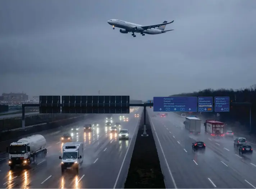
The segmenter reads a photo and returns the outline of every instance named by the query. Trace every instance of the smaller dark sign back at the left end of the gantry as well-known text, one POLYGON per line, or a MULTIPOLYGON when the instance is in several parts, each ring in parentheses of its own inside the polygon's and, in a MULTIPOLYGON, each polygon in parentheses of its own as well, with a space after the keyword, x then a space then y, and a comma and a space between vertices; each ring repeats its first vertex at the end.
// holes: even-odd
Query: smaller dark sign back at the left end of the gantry
POLYGON ((40 96, 39 113, 60 113, 60 96, 40 96))

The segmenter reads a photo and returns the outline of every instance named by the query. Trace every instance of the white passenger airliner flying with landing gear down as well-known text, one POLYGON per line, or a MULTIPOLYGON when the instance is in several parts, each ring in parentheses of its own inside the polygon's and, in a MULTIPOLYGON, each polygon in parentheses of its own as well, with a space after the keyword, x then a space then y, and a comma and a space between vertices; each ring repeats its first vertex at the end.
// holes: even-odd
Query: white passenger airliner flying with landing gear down
POLYGON ((136 37, 134 32, 140 33, 142 36, 144 36, 145 34, 155 35, 155 34, 166 33, 166 31, 172 31, 172 30, 164 30, 164 29, 166 24, 171 24, 173 22, 174 20, 171 22, 164 21, 162 24, 143 26, 143 25, 134 24, 127 21, 123 21, 123 20, 117 20, 117 19, 108 20, 108 23, 113 26, 113 29, 115 29, 115 27, 122 28, 119 30, 120 33, 131 32, 133 37, 136 37))

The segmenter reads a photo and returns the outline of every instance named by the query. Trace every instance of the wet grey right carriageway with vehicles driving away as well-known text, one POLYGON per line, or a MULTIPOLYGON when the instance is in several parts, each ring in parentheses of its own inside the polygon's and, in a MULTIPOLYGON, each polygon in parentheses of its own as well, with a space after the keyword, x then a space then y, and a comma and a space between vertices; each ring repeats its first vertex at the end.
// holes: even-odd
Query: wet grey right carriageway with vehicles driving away
MULTIPOLYGON (((163 118, 152 117, 157 112, 147 110, 166 188, 255 188, 255 152, 238 155, 234 139, 210 137, 204 132, 203 122, 201 134, 194 136, 184 128, 184 117, 173 112, 163 118), (192 151, 196 140, 205 142, 205 152, 192 151)), ((255 144, 250 145, 256 150, 255 144)))

